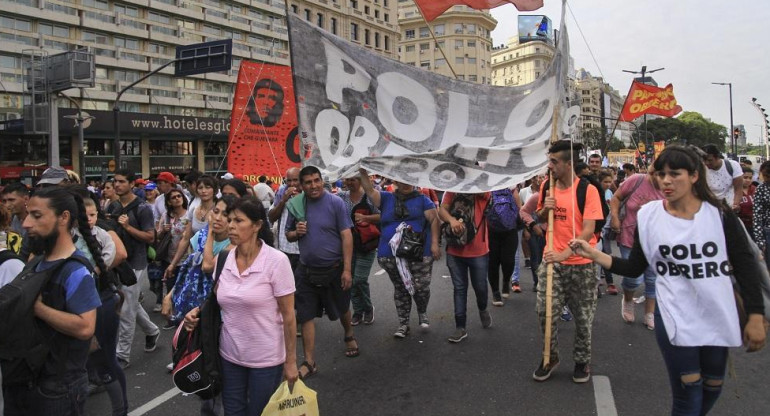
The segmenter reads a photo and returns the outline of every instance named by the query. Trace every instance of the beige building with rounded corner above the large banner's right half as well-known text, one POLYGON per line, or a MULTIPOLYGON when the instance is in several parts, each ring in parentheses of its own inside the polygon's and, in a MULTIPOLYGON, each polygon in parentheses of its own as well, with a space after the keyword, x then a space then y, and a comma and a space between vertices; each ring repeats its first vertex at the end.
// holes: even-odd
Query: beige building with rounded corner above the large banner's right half
POLYGON ((454 6, 426 22, 412 0, 399 0, 398 24, 401 62, 460 80, 491 83, 492 30, 497 20, 487 10, 454 6))

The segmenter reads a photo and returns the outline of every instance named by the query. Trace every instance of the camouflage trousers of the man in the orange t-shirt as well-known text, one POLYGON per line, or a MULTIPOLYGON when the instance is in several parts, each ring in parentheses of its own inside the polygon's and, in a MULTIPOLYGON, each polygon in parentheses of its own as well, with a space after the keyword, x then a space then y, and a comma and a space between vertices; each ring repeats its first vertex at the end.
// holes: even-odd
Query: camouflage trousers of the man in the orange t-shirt
MULTIPOLYGON (((540 332, 545 333, 546 264, 537 270, 537 316, 540 332)), ((569 306, 575 317, 575 363, 591 362, 591 325, 596 312, 596 271, 593 263, 553 264, 553 302, 551 307, 551 355, 558 357, 559 331, 556 325, 562 306, 569 306)))

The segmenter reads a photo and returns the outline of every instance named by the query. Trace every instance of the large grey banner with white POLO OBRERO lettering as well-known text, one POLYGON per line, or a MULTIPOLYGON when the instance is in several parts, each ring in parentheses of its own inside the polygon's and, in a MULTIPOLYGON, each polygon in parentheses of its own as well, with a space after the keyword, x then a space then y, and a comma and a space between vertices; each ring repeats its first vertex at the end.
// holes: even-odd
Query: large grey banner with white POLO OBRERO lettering
MULTIPOLYGON (((547 165, 554 108, 568 111, 567 32, 534 83, 493 87, 384 58, 289 14, 303 165, 329 180, 371 173, 474 193, 513 186, 547 165)), ((562 22, 564 19, 562 19, 562 22)))

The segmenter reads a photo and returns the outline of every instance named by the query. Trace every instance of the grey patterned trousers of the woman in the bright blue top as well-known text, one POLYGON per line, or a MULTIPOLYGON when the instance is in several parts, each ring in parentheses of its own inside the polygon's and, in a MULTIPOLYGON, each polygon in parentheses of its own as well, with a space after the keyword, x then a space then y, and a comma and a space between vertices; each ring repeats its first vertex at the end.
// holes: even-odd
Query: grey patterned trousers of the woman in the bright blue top
POLYGON ((398 313, 398 323, 400 325, 409 325, 409 315, 412 313, 412 299, 417 305, 417 313, 428 311, 428 301, 430 300, 430 277, 433 272, 433 258, 423 257, 422 261, 410 261, 409 271, 412 272, 412 282, 414 283, 414 296, 411 296, 398 274, 395 257, 380 257, 377 259, 393 282, 393 300, 396 302, 396 313, 398 313))

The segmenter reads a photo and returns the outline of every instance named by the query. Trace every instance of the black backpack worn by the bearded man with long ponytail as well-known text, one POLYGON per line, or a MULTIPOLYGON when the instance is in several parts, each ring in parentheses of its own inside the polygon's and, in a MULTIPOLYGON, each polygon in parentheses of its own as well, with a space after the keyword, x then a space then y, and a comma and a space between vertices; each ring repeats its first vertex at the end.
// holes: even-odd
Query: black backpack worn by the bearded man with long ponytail
MULTIPOLYGON (((56 309, 64 307, 52 304, 53 295, 51 278, 70 261, 83 264, 93 272, 91 264, 81 256, 56 260, 46 270, 35 271, 43 256, 30 261, 11 283, 0 288, 0 366, 3 372, 3 386, 32 386, 45 366, 48 355, 56 350, 54 338, 57 332, 45 322, 35 317, 34 305, 38 295, 43 295, 47 305, 56 309)), ((66 356, 61 351, 58 372, 64 373, 66 356)))

